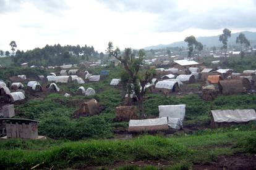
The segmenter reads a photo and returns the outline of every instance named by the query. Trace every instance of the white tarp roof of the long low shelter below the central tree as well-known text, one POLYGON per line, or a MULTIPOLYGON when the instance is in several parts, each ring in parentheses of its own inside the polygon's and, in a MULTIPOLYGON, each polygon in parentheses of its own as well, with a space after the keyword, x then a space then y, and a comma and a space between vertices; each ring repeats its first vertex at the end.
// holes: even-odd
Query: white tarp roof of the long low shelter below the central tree
POLYGON ((167 125, 167 118, 155 118, 155 119, 130 119, 129 127, 140 127, 140 126, 161 126, 167 125))

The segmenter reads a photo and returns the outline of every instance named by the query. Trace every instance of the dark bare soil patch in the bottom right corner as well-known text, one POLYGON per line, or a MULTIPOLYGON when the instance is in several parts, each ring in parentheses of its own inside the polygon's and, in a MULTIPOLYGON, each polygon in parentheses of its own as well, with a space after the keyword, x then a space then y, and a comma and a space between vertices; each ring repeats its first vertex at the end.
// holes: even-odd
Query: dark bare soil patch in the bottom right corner
POLYGON ((216 162, 208 164, 195 164, 194 169, 256 169, 256 155, 247 155, 244 153, 236 153, 235 155, 227 156, 220 155, 216 158, 216 162))

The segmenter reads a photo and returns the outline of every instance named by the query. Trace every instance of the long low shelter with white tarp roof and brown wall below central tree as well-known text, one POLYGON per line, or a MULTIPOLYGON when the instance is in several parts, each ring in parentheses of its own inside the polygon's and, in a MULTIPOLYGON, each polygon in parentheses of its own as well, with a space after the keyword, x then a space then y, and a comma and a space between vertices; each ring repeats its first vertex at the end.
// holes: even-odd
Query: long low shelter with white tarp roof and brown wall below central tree
POLYGON ((130 119, 128 132, 155 132, 168 130, 168 119, 130 119))

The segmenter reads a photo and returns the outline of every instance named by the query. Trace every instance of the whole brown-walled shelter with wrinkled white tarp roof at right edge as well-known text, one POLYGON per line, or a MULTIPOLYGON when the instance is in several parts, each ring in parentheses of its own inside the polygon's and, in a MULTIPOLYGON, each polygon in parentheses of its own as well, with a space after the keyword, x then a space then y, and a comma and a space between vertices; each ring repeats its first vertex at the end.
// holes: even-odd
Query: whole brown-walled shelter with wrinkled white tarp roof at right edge
POLYGON ((211 127, 227 127, 232 124, 256 121, 254 109, 211 110, 211 127))

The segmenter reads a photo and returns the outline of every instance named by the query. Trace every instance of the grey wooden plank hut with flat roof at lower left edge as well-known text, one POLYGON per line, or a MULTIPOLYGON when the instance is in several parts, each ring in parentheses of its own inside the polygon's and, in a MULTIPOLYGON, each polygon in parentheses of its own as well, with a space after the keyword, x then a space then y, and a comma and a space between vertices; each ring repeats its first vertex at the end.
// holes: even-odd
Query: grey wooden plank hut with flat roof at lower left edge
POLYGON ((38 121, 31 119, 3 118, 7 138, 37 139, 38 121))

